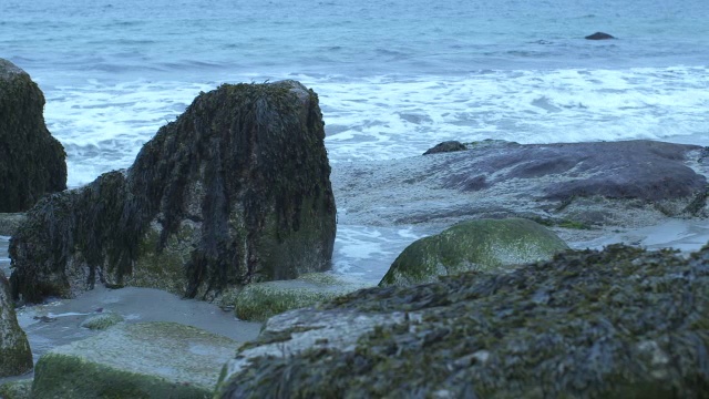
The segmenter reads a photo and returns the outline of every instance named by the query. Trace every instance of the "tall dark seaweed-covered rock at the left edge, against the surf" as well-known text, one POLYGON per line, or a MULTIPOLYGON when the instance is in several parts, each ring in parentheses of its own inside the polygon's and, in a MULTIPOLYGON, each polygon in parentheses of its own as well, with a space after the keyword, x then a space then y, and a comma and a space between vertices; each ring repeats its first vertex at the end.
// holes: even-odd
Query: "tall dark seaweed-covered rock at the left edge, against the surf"
POLYGON ((43 111, 44 95, 30 75, 0 59, 0 212, 27 211, 66 188, 66 154, 43 111))

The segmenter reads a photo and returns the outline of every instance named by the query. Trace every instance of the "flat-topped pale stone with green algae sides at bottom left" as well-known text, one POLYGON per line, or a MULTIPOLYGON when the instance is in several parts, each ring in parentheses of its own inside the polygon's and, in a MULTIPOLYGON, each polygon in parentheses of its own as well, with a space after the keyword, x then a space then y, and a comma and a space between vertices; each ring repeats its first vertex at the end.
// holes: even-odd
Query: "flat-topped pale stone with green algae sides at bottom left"
POLYGON ((33 398, 210 398, 238 344, 175 323, 116 326, 54 348, 34 369, 33 398))

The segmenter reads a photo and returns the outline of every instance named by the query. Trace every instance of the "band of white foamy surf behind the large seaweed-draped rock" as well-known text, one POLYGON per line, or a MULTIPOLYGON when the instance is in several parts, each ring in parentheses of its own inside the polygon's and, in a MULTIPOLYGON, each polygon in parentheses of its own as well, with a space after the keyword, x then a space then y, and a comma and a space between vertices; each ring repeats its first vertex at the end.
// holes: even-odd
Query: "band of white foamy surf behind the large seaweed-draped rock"
MULTIPOLYGON (((215 76, 212 76, 215 78, 215 76)), ((650 139, 709 144, 709 68, 479 71, 456 76, 219 76, 210 82, 95 80, 45 90, 69 185, 130 166, 199 91, 298 79, 320 98, 331 162, 421 154, 445 140, 520 143, 650 139)))

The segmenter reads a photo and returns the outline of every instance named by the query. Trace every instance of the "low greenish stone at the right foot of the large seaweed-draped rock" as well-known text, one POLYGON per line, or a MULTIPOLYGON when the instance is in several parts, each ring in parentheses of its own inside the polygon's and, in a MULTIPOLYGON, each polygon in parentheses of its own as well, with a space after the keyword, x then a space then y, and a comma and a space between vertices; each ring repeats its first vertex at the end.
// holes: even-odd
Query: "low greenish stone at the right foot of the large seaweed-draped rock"
POLYGON ((220 301, 222 306, 233 305, 236 317, 242 320, 265 321, 274 315, 314 306, 364 287, 363 283, 312 273, 295 280, 249 284, 220 301))

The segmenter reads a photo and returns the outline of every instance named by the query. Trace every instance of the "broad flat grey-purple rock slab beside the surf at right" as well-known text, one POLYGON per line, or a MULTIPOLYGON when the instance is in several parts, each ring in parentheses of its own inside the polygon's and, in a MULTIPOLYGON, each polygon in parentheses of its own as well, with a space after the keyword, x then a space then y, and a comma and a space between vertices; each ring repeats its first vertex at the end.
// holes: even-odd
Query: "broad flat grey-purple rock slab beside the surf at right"
POLYGON ((335 164, 332 182, 343 224, 521 216, 552 226, 641 227, 705 215, 705 156, 700 146, 653 141, 487 141, 455 153, 335 164))

